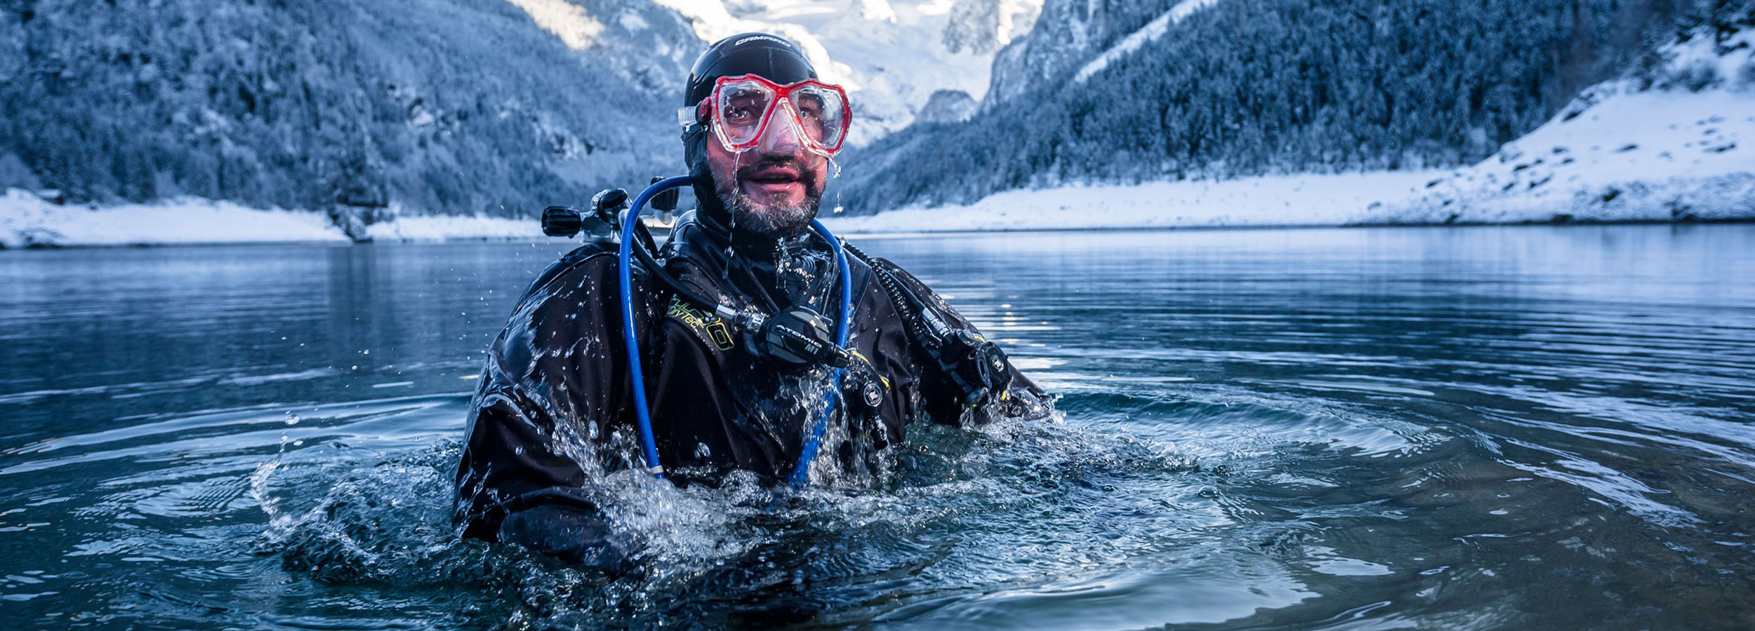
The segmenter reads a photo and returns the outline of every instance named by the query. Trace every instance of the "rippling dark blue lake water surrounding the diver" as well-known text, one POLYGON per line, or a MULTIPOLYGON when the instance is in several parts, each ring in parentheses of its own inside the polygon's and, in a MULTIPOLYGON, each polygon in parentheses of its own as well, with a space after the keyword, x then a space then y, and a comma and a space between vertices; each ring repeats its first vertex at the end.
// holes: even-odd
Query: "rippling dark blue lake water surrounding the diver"
POLYGON ((618 578, 448 522, 565 244, 0 252, 5 627, 1755 626, 1755 226, 856 242, 1064 421, 611 475, 618 578))

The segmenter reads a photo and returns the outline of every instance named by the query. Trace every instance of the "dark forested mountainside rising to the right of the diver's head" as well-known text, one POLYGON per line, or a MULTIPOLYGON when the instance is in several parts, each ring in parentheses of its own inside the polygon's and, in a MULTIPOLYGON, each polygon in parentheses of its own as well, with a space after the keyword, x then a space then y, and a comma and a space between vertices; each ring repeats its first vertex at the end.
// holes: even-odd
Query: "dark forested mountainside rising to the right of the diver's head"
POLYGON ((979 110, 844 160, 853 214, 1064 184, 1441 168, 1718 0, 1048 0, 979 110))

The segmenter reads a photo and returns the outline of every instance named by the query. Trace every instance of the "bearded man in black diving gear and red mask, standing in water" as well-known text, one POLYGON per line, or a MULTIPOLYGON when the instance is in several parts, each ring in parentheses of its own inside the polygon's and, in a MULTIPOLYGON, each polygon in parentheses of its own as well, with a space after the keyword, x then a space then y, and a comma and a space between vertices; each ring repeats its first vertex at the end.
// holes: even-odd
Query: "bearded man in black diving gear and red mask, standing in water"
POLYGON ((634 550, 591 471, 856 484, 907 422, 1051 412, 927 286, 814 221, 851 109, 795 44, 713 44, 683 105, 688 175, 570 214, 558 233, 598 237, 542 272, 495 338, 456 471, 463 536, 612 568, 634 550), (691 186, 697 209, 658 249, 639 212, 667 186, 691 186))

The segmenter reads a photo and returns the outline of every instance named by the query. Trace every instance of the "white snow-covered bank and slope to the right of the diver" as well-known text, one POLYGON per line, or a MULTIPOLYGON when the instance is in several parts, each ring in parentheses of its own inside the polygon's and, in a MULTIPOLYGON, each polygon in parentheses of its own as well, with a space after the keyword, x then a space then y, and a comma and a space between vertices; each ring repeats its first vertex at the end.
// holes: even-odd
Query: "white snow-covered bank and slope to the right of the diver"
POLYGON ((1076 184, 825 223, 906 233, 1755 219, 1755 32, 1658 54, 1658 68, 1592 86, 1467 168, 1076 184))

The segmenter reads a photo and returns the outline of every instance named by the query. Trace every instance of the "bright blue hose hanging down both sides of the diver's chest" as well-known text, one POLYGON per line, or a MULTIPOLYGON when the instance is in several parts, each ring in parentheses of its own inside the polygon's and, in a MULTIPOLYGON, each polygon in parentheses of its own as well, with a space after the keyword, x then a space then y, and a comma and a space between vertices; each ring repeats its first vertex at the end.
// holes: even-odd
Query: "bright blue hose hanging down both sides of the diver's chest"
MULTIPOLYGON (((621 340, 623 347, 628 351, 628 375, 634 382, 634 414, 641 426, 641 449, 646 456, 646 470, 655 477, 663 477, 663 464, 658 463, 658 440, 653 438, 653 421, 649 407, 646 405, 646 373, 641 366, 641 344, 634 335, 634 228, 639 224, 641 210, 651 202, 658 193, 688 186, 688 175, 667 177, 653 186, 648 186, 634 198, 634 205, 628 207, 627 217, 621 219, 621 249, 620 254, 620 273, 621 273, 621 340)), ((848 330, 853 326, 853 275, 848 272, 848 254, 841 251, 841 242, 835 235, 828 231, 820 221, 811 221, 811 228, 816 230, 828 247, 835 252, 837 275, 841 277, 841 323, 835 326, 835 345, 848 347, 848 330)), ((835 368, 834 384, 835 387, 828 393, 828 407, 823 410, 823 417, 811 426, 809 436, 806 436, 804 449, 799 452, 799 464, 793 466, 788 480, 793 487, 802 487, 811 477, 811 461, 816 459, 818 447, 823 442, 823 431, 828 428, 828 417, 835 412, 835 393, 841 391, 841 377, 846 368, 835 368)))

